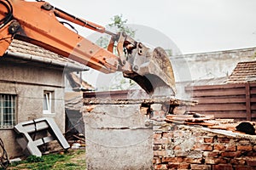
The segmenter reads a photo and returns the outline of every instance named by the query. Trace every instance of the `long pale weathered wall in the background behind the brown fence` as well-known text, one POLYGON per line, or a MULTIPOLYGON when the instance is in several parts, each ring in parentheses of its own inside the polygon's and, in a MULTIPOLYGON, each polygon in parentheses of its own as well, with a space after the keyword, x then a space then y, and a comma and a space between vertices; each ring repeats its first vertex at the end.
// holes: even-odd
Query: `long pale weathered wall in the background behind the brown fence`
POLYGON ((171 56, 176 82, 230 76, 238 62, 256 59, 256 48, 171 56))

